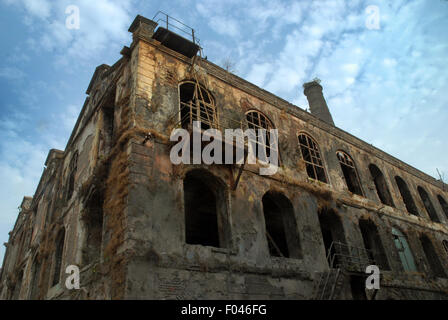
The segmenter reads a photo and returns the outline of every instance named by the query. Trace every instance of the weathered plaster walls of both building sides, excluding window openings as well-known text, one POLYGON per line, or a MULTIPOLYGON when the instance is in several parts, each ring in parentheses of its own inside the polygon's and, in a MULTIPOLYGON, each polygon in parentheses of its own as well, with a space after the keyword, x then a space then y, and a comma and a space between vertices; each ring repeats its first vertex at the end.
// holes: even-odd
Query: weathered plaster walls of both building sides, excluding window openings
MULTIPOLYGON (((319 223, 324 211, 341 221, 342 240, 351 246, 363 246, 360 219, 376 225, 391 269, 383 270, 377 298, 447 297, 448 280, 432 275, 419 240, 428 235, 448 269, 441 246, 448 239, 448 217, 437 201, 437 195, 448 199, 442 189, 446 186, 208 61, 199 60, 192 69, 192 61, 148 38, 149 29, 143 36, 138 30, 122 59, 96 69, 66 150, 50 151, 34 198, 22 205, 4 259, 1 298, 11 299, 17 285, 21 299, 309 299, 318 272, 328 270, 319 223), (213 96, 222 128, 239 127, 245 113, 256 109, 279 129, 275 175, 260 176, 259 164, 246 165, 233 190, 236 166, 171 163, 169 135, 178 122, 179 84, 195 78, 213 96), (299 132, 318 143, 329 184, 308 178, 299 132), (338 150, 354 159, 364 197, 348 192, 338 150), (75 188, 66 199, 75 152, 75 188), (380 203, 368 169, 372 163, 385 176, 394 208, 380 203), (220 248, 186 243, 183 179, 193 169, 213 175, 222 186, 220 248), (406 212, 396 175, 406 181, 418 217, 406 212), (430 195, 441 223, 430 220, 418 186, 430 195), (270 256, 262 203, 268 191, 283 194, 291 204, 299 258, 270 256), (101 200, 101 244, 98 256, 87 261, 89 215, 96 197, 101 200), (392 227, 406 235, 418 272, 403 272, 392 227), (66 290, 63 271, 52 285, 62 228, 62 270, 78 265, 83 290, 66 290)), ((339 298, 352 298, 348 277, 339 298)))

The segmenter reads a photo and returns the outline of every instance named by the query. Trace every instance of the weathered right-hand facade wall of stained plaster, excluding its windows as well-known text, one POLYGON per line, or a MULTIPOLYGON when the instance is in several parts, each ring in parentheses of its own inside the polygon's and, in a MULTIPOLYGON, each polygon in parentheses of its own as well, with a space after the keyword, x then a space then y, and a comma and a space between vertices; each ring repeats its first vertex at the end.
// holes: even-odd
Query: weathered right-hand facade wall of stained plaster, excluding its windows
MULTIPOLYGON (((133 55, 138 56, 135 91, 136 126, 143 130, 154 130, 166 137, 173 128, 172 119, 178 112, 178 85, 181 81, 191 80, 193 77, 189 73, 190 65, 181 57, 177 57, 176 53, 167 52, 167 49, 160 47, 156 42, 140 41, 133 50, 133 55)), ((399 227, 407 234, 416 262, 425 274, 429 271, 418 237, 408 229, 433 234, 434 244, 438 246, 440 257, 447 266, 446 255, 441 248, 441 240, 447 238, 446 225, 431 222, 422 203, 418 204, 421 217, 406 213, 393 178, 395 175, 400 175, 407 181, 412 188, 411 192, 416 203, 419 202, 415 193, 417 184, 424 186, 431 193, 435 207, 437 206, 435 195, 443 194, 446 197, 446 192, 392 166, 388 161, 377 158, 375 154, 348 143, 345 139, 330 135, 303 119, 292 117, 263 99, 229 85, 222 79, 207 75, 203 70, 199 72, 198 78, 213 95, 224 127, 231 127, 233 123, 227 120, 228 118, 241 121, 245 112, 251 109, 262 111, 278 125, 282 166, 279 173, 272 177, 261 177, 256 173, 257 166, 247 166, 236 191, 230 190, 234 182, 234 170, 219 165, 204 167, 227 186, 229 208, 227 218, 231 241, 227 249, 188 245, 185 243, 182 178, 195 166, 173 166, 169 160, 170 145, 160 137, 156 136, 144 145, 141 143, 143 137, 140 141, 135 140, 131 146, 130 156, 130 180, 133 187, 130 191, 128 211, 129 232, 135 245, 135 257, 128 265, 127 297, 173 298, 176 295, 185 297, 189 294, 189 297, 193 298, 247 298, 253 297, 253 293, 251 294, 248 289, 250 285, 246 283, 250 282, 247 279, 253 276, 262 279, 260 281, 266 285, 257 292, 261 296, 288 298, 289 295, 285 290, 297 292, 297 288, 308 287, 300 289, 301 293, 297 293, 295 298, 300 298, 300 295, 301 298, 309 298, 314 272, 327 268, 317 214, 319 203, 338 212, 344 226, 346 241, 350 245, 363 246, 358 227, 360 218, 371 219, 375 223, 392 269, 385 273, 390 274, 391 278, 402 272, 391 236, 392 226, 399 227), (329 186, 318 183, 318 188, 331 192, 335 201, 322 202, 322 199, 301 187, 301 183, 306 184, 308 180, 306 172, 298 170, 301 167, 301 156, 297 147, 297 134, 301 131, 309 133, 319 143, 330 183, 329 186), (336 158, 337 150, 344 150, 355 159, 366 198, 347 191, 336 158), (375 185, 368 171, 371 163, 383 171, 397 208, 383 208, 384 206, 379 203, 375 185), (299 183, 294 183, 297 181, 299 183), (263 195, 269 190, 282 192, 294 207, 297 234, 303 246, 302 259, 269 256, 261 203, 263 195), (341 205, 340 201, 338 203, 340 195, 343 195, 342 202, 351 206, 341 205), (364 206, 366 208, 363 208, 364 206), (203 274, 203 271, 207 273, 203 274), (236 272, 239 273, 239 280, 235 278, 236 272), (202 276, 197 276, 201 274, 202 276), (275 274, 276 281, 275 285, 269 286, 272 274, 275 274), (291 276, 292 274, 294 276, 291 276), (240 283, 239 296, 235 296, 228 287, 221 287, 218 283, 222 283, 222 279, 226 279, 226 282, 240 283), (285 279, 288 279, 288 284, 283 282, 285 279), (167 293, 169 290, 166 287, 170 286, 174 288, 172 294, 167 293)), ((446 222, 443 220, 441 208, 437 210, 441 221, 446 222)), ((419 281, 421 283, 418 285, 422 287, 424 286, 422 283, 430 288, 431 285, 435 285, 425 279, 423 273, 414 275, 407 281, 408 284, 402 285, 411 287, 419 281), (423 280, 418 280, 421 277, 423 280)), ((438 279, 438 283, 442 283, 442 287, 446 288, 447 283, 444 279, 438 279)), ((235 285, 230 287, 234 288, 235 285)), ((346 288, 345 297, 350 298, 351 293, 347 290, 346 288)), ((432 287, 431 290, 435 289, 432 287)), ((427 297, 430 296, 431 294, 428 294, 427 297)), ((388 297, 384 290, 382 298, 388 297)))

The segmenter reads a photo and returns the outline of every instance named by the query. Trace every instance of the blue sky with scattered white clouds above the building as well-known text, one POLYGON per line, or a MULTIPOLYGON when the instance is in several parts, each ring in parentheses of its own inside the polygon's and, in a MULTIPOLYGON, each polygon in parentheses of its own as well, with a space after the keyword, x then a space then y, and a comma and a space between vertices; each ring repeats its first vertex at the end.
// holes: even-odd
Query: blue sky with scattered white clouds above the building
POLYGON ((448 180, 448 1, 0 0, 0 245, 95 68, 159 10, 195 29, 208 60, 302 109, 319 78, 337 127, 448 180))

